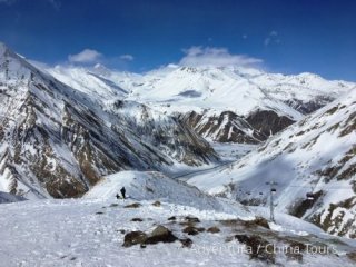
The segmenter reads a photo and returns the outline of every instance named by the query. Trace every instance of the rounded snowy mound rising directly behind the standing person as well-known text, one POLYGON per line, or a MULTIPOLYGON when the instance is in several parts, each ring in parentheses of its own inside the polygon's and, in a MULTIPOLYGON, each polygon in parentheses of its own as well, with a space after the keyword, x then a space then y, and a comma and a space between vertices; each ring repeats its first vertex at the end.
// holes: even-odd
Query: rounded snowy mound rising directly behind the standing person
POLYGON ((240 216, 253 218, 243 205, 227 199, 217 199, 202 194, 198 188, 171 179, 161 172, 120 171, 105 177, 83 197, 90 199, 115 199, 125 187, 127 196, 135 200, 161 200, 220 212, 239 210, 240 216))

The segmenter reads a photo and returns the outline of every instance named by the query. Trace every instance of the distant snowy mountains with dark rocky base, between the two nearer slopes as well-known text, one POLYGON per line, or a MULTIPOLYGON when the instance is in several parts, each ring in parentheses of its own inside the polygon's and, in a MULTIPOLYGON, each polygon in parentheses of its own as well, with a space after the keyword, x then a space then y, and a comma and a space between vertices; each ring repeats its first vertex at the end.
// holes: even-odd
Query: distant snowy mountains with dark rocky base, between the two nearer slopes
POLYGON ((284 76, 260 70, 169 65, 145 75, 62 67, 48 71, 80 87, 92 75, 113 82, 128 99, 147 103, 195 128, 208 140, 258 144, 355 87, 316 75, 284 76))

